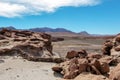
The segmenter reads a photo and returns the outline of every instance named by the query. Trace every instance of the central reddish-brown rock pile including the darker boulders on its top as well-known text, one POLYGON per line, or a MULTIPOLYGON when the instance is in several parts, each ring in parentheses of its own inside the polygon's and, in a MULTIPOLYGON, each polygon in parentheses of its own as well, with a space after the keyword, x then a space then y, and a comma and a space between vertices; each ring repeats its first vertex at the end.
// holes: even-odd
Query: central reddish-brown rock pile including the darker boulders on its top
POLYGON ((110 71, 109 63, 103 61, 100 54, 87 54, 85 50, 70 51, 67 53, 65 62, 57 64, 52 68, 53 71, 61 73, 64 79, 74 79, 82 72, 104 75, 110 71), (82 54, 82 55, 81 55, 82 54))

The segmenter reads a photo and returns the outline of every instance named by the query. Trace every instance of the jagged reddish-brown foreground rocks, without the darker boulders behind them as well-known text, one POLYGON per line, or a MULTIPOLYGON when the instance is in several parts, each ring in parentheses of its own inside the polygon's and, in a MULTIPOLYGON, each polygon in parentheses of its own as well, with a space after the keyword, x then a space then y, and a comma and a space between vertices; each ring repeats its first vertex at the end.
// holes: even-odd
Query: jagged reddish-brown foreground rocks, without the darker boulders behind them
POLYGON ((97 58, 89 60, 87 57, 74 57, 60 64, 57 64, 57 66, 54 66, 52 70, 61 73, 64 79, 74 79, 82 72, 104 75, 110 71, 109 64, 107 62, 100 62, 97 58))

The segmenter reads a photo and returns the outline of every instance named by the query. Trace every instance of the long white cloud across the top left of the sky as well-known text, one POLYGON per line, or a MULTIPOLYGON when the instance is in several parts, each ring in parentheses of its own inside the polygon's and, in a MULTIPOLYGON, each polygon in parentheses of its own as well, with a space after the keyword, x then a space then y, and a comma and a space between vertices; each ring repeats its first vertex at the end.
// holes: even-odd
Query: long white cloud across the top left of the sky
POLYGON ((0 16, 18 17, 39 15, 41 12, 54 12, 65 6, 94 6, 100 0, 0 0, 0 16))

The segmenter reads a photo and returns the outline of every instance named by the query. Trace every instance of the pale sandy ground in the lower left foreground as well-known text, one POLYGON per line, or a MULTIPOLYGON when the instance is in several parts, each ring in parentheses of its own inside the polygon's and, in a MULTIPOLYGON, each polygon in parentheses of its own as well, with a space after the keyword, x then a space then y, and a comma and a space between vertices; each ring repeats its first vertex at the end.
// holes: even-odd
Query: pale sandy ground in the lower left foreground
POLYGON ((9 57, 0 63, 0 80, 59 80, 51 67, 55 63, 32 62, 9 57))

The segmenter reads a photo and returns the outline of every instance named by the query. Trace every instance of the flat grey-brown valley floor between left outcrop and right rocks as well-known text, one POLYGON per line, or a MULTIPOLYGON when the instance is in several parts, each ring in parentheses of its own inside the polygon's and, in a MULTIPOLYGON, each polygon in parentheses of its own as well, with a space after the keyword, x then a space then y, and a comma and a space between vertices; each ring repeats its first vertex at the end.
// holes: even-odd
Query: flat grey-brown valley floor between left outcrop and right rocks
POLYGON ((60 42, 53 42, 53 52, 56 52, 60 57, 65 57, 68 51, 80 51, 85 49, 88 53, 101 53, 102 43, 104 40, 65 40, 60 42))

